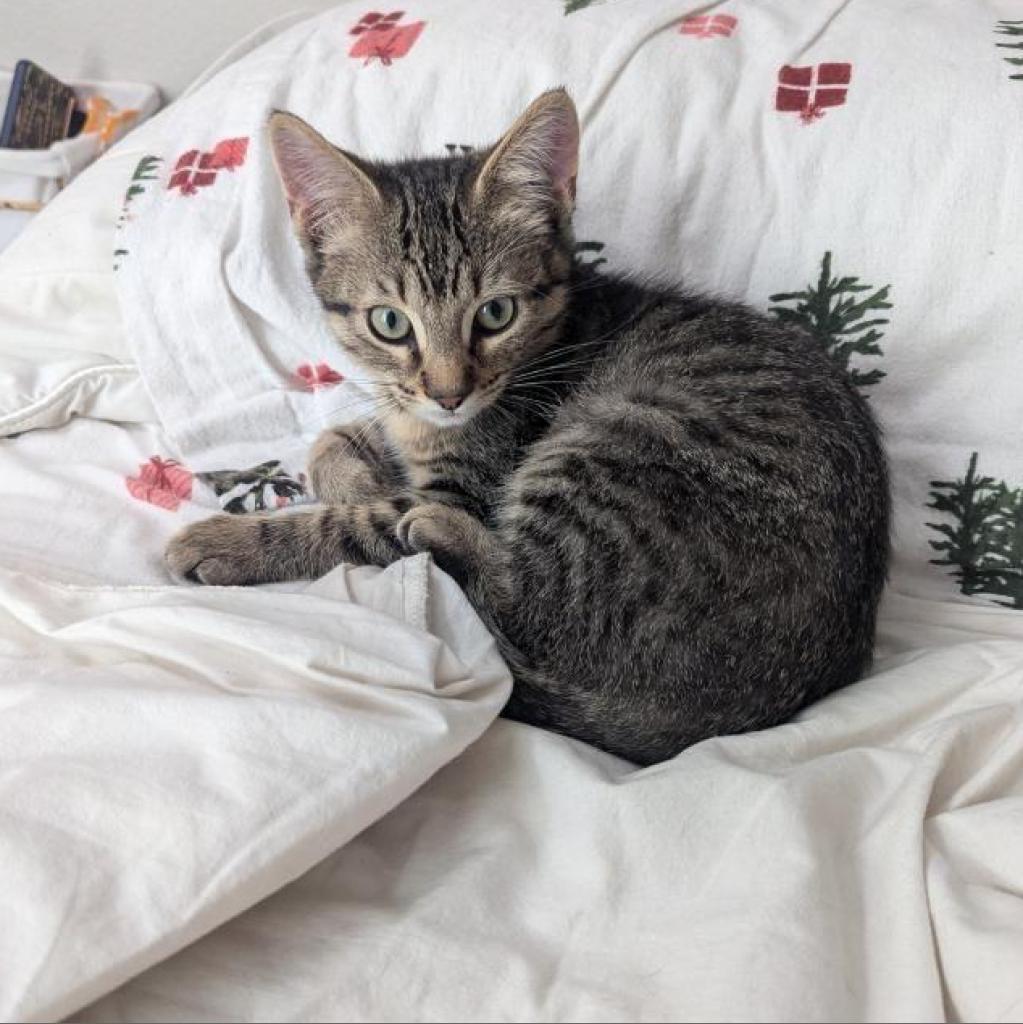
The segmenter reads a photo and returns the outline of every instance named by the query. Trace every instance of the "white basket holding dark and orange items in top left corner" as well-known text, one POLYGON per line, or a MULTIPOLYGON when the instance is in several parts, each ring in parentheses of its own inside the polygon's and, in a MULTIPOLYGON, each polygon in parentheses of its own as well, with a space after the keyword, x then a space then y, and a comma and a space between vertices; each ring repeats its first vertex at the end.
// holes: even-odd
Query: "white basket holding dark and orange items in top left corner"
MULTIPOLYGON (((0 70, 0 96, 10 91, 13 75, 0 70)), ((160 93, 137 82, 68 83, 82 106, 92 95, 109 99, 119 111, 135 110, 129 127, 144 121, 160 106, 160 93)), ((0 148, 0 249, 25 226, 76 174, 92 163, 104 146, 97 132, 54 142, 48 150, 0 148)))

